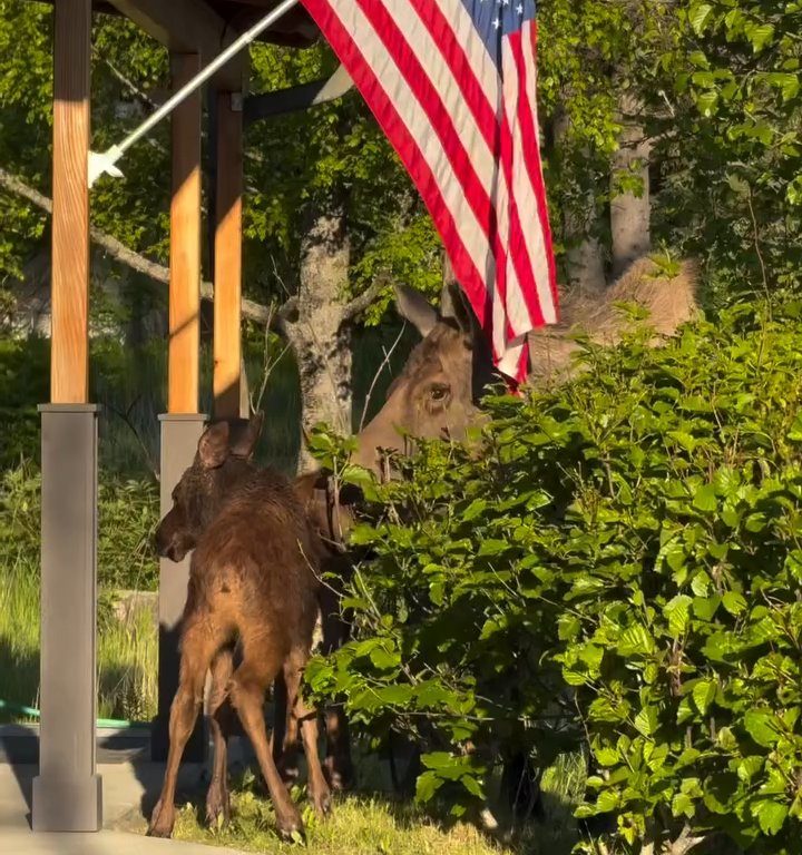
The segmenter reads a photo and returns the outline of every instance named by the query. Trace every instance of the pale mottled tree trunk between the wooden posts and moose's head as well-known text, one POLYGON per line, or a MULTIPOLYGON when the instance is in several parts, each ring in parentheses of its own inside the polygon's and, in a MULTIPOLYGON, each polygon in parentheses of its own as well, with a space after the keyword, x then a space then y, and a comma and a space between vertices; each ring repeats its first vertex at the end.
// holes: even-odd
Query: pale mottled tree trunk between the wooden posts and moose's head
MULTIPOLYGON (((303 431, 326 422, 351 433, 351 325, 343 299, 349 261, 342 209, 319 213, 302 242, 294 316, 283 321, 299 366, 303 431)), ((315 465, 302 436, 299 472, 315 465)))

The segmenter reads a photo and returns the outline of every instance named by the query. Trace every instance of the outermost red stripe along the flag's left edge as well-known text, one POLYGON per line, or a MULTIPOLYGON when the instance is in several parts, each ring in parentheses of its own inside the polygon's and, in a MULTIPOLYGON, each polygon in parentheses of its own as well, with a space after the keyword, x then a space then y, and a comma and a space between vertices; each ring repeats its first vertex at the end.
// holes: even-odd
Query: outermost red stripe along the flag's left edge
MULTIPOLYGON (((423 154, 401 120, 387 92, 381 87, 379 79, 354 43, 351 35, 343 27, 326 0, 303 0, 303 3, 332 46, 340 61, 345 66, 351 79, 365 99, 368 107, 376 117, 382 130, 398 151, 442 237, 443 245, 451 258, 456 277, 464 288, 482 328, 488 330, 485 279, 462 244, 453 216, 442 198, 434 175, 429 168, 423 154)), ((490 344, 492 346, 492 338, 490 338, 490 344)), ((493 360, 498 361, 498 354, 495 352, 495 348, 493 360)))

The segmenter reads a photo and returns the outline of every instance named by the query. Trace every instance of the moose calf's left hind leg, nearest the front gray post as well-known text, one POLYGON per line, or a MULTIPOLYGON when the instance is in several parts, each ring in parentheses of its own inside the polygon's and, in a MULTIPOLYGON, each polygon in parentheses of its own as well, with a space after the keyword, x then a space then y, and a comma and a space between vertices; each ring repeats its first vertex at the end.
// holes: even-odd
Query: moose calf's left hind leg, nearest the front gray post
POLYGON ((169 720, 169 751, 162 795, 150 817, 148 835, 169 837, 175 825, 175 787, 178 766, 203 704, 204 682, 212 657, 221 646, 219 633, 205 621, 188 626, 182 633, 178 690, 169 720))

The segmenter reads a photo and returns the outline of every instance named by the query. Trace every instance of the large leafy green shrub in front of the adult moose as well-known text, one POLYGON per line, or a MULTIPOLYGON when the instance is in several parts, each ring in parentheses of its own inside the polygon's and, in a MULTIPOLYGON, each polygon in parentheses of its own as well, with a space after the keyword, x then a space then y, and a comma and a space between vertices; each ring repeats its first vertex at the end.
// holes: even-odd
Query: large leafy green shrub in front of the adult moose
POLYGON ((799 852, 802 330, 757 311, 587 345, 378 491, 355 638, 307 680, 419 741, 422 800, 473 810, 505 755, 583 740, 614 848, 799 852))

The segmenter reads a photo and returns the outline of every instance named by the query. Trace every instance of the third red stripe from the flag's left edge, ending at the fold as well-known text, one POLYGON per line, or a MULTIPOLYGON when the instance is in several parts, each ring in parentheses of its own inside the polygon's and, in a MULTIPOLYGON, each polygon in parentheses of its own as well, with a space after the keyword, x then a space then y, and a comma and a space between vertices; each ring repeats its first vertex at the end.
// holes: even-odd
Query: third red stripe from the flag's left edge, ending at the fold
MULTIPOLYGON (((418 12, 418 17, 431 33, 434 43, 451 69, 466 105, 473 114, 473 118, 485 137, 488 148, 497 153, 499 147, 499 121, 496 105, 490 104, 485 95, 481 83, 473 73, 468 53, 457 41, 457 36, 453 29, 451 29, 451 24, 443 16, 440 7, 432 2, 432 0, 409 0, 409 2, 418 12)), ((476 38, 479 40, 478 35, 476 38)), ((487 50, 483 43, 481 49, 487 50)))

